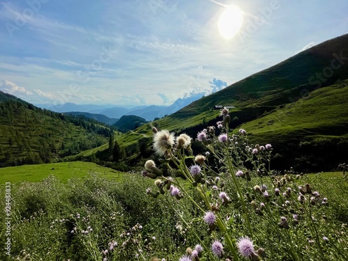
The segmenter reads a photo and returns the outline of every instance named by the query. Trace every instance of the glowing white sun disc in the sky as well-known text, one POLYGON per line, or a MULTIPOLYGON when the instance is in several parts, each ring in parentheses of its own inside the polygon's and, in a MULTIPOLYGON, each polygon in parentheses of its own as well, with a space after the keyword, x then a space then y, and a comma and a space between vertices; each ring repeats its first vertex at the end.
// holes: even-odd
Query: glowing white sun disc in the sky
POLYGON ((220 15, 218 26, 223 38, 230 39, 238 33, 243 23, 243 11, 237 6, 227 6, 220 15))

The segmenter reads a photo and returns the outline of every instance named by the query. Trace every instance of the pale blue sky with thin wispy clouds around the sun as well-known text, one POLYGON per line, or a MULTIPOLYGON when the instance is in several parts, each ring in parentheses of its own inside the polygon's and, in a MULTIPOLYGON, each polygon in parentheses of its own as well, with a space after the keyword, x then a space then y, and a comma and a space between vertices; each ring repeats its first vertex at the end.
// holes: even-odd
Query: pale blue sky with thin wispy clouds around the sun
POLYGON ((348 33, 347 0, 0 0, 0 90, 33 104, 168 105, 348 33), (223 38, 226 6, 242 26, 223 38))

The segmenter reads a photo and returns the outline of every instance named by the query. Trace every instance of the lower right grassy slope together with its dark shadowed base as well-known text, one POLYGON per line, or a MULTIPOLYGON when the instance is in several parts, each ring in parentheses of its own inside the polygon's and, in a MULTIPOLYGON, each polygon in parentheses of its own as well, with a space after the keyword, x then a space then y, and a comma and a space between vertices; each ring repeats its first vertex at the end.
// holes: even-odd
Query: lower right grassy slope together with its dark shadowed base
POLYGON ((251 142, 271 143, 277 168, 322 171, 348 161, 348 80, 246 122, 251 142), (288 159, 292 159, 289 161, 288 159), (323 169, 324 168, 324 169, 323 169))

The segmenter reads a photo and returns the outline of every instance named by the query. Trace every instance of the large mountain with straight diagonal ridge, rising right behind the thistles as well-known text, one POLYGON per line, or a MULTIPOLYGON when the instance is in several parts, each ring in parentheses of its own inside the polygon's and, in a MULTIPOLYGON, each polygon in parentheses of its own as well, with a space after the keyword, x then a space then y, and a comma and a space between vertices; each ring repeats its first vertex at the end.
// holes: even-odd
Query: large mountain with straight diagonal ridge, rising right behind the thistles
MULTIPOLYGON (((159 129, 187 132, 195 137, 198 131, 208 125, 215 125, 216 121, 221 119, 219 111, 214 110, 215 105, 233 106, 233 109, 230 109, 232 118, 230 127, 238 129, 245 125, 245 129, 251 134, 251 143, 274 143, 275 150, 283 153, 282 157, 278 157, 280 160, 276 165, 277 168, 296 166, 296 168, 306 171, 332 170, 335 166, 337 167, 339 161, 343 160, 340 152, 333 149, 333 144, 336 142, 341 145, 347 144, 348 117, 344 113, 339 113, 347 111, 344 103, 340 102, 333 106, 329 100, 338 98, 338 93, 347 97, 346 79, 348 79, 348 34, 306 49, 271 68, 202 97, 152 124, 159 129), (325 89, 327 91, 321 92, 320 90, 324 90, 324 88, 327 88, 325 89), (336 93, 337 95, 329 95, 329 90, 337 88, 341 92, 336 93), (317 97, 311 101, 313 106, 318 109, 308 114, 310 111, 307 107, 308 104, 302 101, 306 101, 309 97, 317 97), (298 108, 297 122, 301 122, 301 125, 299 124, 297 127, 295 121, 294 127, 287 128, 286 135, 282 127, 275 127, 272 131, 269 129, 267 131, 267 128, 264 128, 262 132, 258 130, 260 125, 268 124, 264 122, 269 122, 269 120, 262 119, 266 119, 265 117, 269 117, 269 115, 276 116, 277 112, 288 108, 287 106, 295 106, 295 104, 298 108), (326 121, 320 120, 320 126, 313 124, 321 116, 326 121), (330 119, 334 124, 330 122, 330 119), (338 122, 340 122, 339 125, 338 122), (342 132, 335 131, 335 124, 342 129, 342 132), (320 143, 322 139, 325 142, 320 143), (327 154, 320 159, 316 157, 313 150, 319 148, 319 144, 322 144, 321 150, 331 152, 330 157, 327 154)), ((292 113, 292 111, 282 114, 282 122, 287 122, 287 118, 290 119, 292 114, 287 113, 292 113)), ((276 126, 283 126, 282 122, 276 126)), ((122 139, 119 140, 120 144, 124 140, 125 145, 131 146, 129 141, 133 140, 136 143, 137 139, 141 139, 139 134, 151 137, 150 125, 143 125, 133 133, 122 136, 122 139)), ((148 142, 150 143, 150 141, 148 142)), ((135 150, 134 153, 136 153, 135 150)), ((347 153, 343 155, 347 155, 347 153)), ((347 156, 344 156, 344 159, 348 161, 347 156)))

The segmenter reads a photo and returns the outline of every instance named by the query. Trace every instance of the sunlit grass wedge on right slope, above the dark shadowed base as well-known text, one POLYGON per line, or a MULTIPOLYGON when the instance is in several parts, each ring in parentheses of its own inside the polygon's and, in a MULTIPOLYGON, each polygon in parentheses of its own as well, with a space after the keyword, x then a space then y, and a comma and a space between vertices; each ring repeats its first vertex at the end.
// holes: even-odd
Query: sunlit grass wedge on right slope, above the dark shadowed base
POLYGON ((348 131, 348 82, 315 90, 307 97, 287 104, 242 127, 255 136, 341 136, 348 131), (271 134, 271 135, 270 135, 271 134), (278 135, 277 135, 278 134, 278 135))

